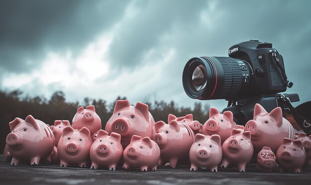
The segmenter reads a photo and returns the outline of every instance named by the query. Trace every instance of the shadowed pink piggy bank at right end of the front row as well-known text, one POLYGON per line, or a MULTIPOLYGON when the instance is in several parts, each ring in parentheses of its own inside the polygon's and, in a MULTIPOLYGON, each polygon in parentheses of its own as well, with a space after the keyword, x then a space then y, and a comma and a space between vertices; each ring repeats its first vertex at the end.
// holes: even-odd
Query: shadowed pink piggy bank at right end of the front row
POLYGON ((293 170, 295 173, 300 173, 306 162, 306 151, 303 142, 285 137, 283 144, 280 145, 276 152, 276 157, 280 172, 293 170))

